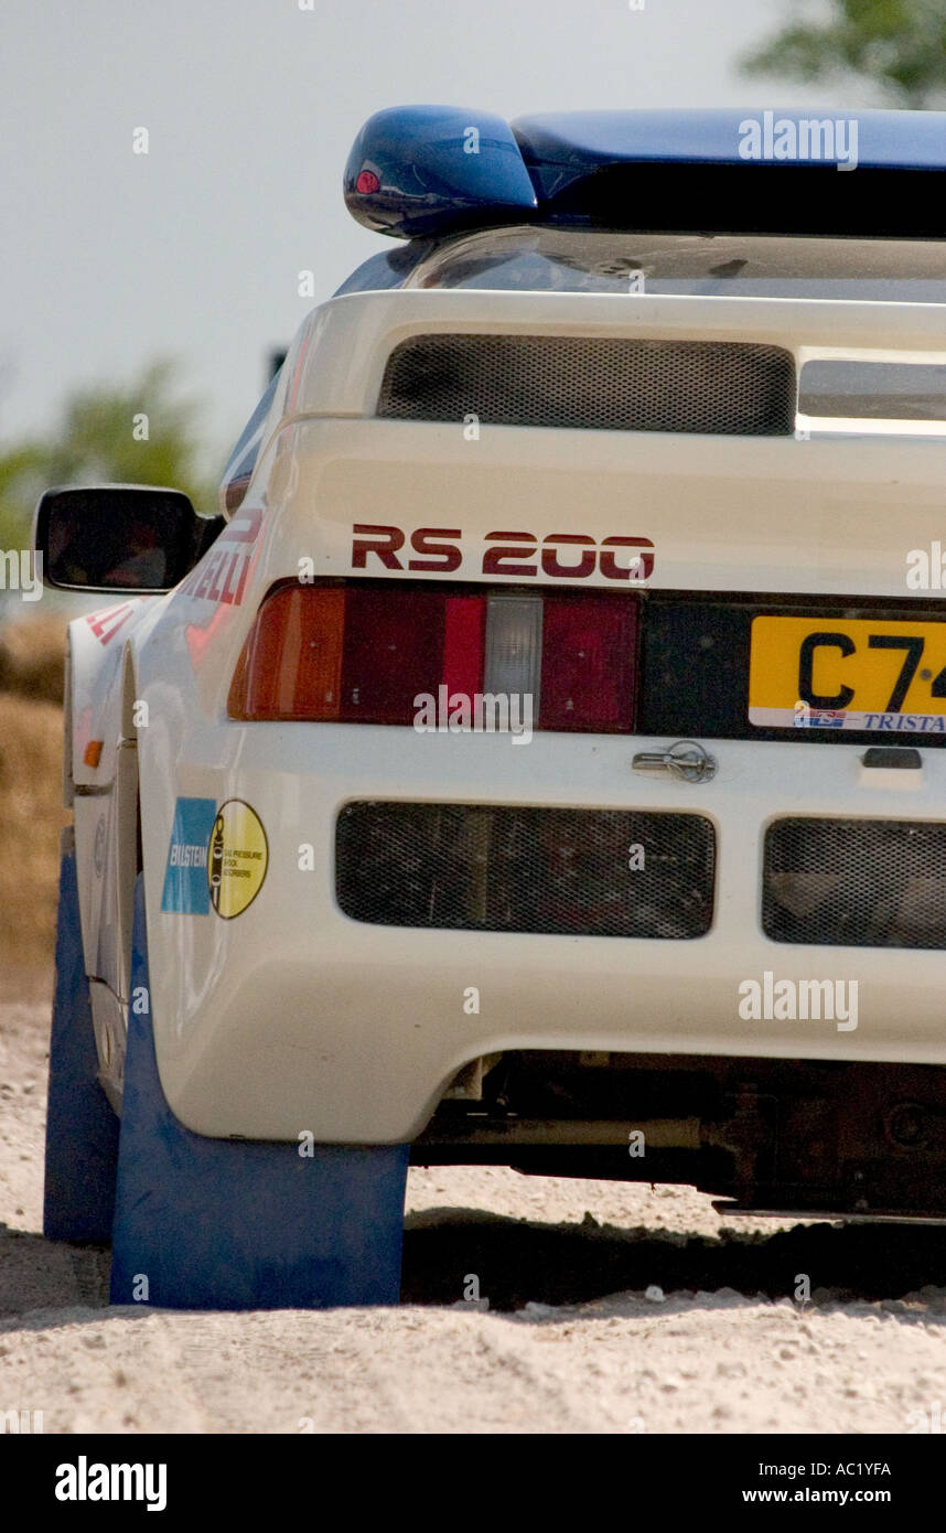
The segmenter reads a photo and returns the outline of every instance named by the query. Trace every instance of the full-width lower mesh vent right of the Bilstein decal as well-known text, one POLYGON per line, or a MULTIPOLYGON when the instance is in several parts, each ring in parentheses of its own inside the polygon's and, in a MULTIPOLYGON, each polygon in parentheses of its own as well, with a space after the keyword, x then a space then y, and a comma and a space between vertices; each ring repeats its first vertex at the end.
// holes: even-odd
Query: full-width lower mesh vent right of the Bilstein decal
POLYGON ((336 892, 345 915, 379 926, 702 937, 714 851, 698 814, 350 803, 336 892))

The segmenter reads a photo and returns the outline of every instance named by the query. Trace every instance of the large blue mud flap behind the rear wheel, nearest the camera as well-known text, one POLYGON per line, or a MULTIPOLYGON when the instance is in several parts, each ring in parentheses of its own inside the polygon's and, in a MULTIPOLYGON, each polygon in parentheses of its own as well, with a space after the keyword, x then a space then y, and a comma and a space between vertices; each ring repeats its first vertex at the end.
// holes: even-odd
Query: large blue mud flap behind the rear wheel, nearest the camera
POLYGON ((396 1305, 406 1174, 406 1145, 316 1145, 310 1157, 296 1144, 207 1139, 173 1116, 155 1059, 140 877, 112 1303, 396 1305))

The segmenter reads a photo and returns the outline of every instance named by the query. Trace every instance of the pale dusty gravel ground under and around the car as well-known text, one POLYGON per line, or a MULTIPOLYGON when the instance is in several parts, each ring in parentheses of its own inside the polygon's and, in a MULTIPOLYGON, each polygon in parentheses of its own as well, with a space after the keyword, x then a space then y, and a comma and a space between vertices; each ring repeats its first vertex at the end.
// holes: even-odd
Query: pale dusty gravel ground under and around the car
POLYGON ((107 1249, 40 1234, 46 1026, 44 1004, 0 1007, 0 1412, 44 1432, 940 1429, 940 1231, 727 1225, 691 1188, 414 1170, 397 1309, 112 1309, 107 1249), (463 1303, 471 1274, 489 1308, 463 1303))

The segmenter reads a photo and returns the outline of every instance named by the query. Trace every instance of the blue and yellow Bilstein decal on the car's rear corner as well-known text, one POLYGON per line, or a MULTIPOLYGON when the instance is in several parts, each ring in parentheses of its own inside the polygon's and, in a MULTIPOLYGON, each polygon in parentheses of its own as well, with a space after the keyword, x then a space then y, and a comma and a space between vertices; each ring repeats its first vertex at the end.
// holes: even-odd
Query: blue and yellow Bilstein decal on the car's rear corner
POLYGON ((178 799, 161 909, 233 920, 262 889, 270 848, 262 820, 242 799, 178 799))

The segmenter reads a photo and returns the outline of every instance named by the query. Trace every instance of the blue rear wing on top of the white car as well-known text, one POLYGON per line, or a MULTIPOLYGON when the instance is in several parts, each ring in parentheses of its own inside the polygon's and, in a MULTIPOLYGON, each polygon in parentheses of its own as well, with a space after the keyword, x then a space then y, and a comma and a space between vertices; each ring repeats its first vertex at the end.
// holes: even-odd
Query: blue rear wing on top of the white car
POLYGON ((365 123, 345 202, 400 239, 504 224, 946 235, 946 112, 406 106, 365 123), (837 175, 837 172, 846 172, 837 175))

